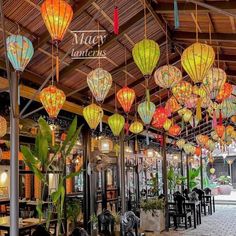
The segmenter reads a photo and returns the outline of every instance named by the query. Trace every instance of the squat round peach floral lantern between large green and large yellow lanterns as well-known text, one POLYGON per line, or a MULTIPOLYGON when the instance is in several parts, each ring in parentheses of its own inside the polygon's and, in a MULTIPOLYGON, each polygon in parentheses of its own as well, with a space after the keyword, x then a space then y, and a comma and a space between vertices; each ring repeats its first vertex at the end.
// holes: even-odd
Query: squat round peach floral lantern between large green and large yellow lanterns
POLYGON ((172 88, 182 80, 182 73, 176 66, 165 65, 156 70, 154 79, 158 86, 172 88))

